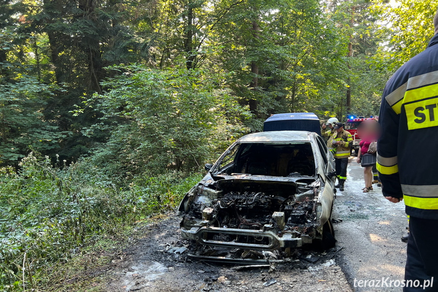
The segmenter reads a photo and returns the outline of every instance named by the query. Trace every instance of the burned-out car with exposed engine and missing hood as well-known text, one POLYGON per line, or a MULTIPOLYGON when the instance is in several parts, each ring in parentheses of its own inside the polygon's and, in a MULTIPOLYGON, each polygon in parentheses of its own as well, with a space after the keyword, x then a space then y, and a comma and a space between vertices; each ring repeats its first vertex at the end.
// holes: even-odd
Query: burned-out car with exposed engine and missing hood
POLYGON ((181 232, 200 246, 281 251, 334 243, 333 157, 314 132, 249 134, 181 201, 181 232))

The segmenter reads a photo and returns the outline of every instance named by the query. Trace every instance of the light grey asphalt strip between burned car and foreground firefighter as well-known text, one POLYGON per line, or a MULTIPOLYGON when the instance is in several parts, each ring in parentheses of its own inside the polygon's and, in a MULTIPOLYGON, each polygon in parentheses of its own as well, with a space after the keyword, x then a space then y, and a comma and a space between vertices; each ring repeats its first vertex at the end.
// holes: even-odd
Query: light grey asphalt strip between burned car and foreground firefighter
POLYGON ((363 168, 351 157, 345 190, 337 192, 333 210, 333 218, 342 220, 334 224, 336 245, 343 248, 337 264, 355 291, 401 291, 394 285, 405 273, 406 243, 400 240, 407 233, 405 204, 387 201, 377 184, 367 193, 364 186, 363 168))

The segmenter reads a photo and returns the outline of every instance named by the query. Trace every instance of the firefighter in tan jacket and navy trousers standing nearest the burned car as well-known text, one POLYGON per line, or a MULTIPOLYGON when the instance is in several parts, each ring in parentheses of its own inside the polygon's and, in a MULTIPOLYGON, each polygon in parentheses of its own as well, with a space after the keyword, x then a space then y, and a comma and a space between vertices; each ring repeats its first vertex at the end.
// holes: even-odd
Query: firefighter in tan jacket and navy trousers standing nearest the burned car
POLYGON ((341 122, 337 122, 333 126, 336 132, 330 137, 331 153, 333 153, 334 164, 336 169, 336 177, 338 184, 335 185, 339 190, 344 190, 345 180, 347 179, 348 157, 350 157, 350 146, 353 144, 353 137, 344 130, 341 122))

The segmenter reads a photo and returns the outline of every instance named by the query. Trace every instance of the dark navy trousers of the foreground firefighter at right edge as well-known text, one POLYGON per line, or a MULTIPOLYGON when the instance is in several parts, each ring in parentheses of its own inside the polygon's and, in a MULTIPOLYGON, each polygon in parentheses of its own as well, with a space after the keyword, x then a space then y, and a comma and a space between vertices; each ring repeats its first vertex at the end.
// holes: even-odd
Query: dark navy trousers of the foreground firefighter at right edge
POLYGON ((409 217, 410 234, 403 292, 438 291, 437 230, 438 220, 409 217))

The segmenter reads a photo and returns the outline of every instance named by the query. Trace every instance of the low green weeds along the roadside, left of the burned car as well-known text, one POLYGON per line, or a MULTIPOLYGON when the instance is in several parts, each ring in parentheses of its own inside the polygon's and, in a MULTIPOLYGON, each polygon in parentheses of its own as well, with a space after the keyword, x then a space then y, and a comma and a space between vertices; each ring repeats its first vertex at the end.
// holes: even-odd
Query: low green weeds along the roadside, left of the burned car
POLYGON ((7 291, 69 277, 72 271, 62 265, 73 258, 90 261, 85 269, 111 261, 97 256, 99 244, 154 212, 174 209, 199 180, 199 174, 172 172, 138 177, 121 188, 86 164, 56 168, 32 153, 21 168, 19 174, 0 173, 0 289, 7 291))

